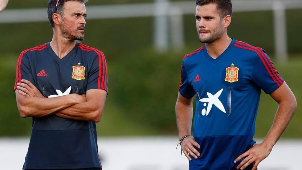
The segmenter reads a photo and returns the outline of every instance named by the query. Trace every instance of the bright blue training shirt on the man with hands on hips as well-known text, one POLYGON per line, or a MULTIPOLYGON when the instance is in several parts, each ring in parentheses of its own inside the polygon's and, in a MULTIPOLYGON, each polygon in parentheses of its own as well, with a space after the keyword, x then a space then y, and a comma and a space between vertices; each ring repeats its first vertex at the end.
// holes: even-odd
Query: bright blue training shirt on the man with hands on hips
POLYGON ((234 160, 255 143, 261 89, 272 93, 284 80, 261 48, 232 39, 216 59, 205 46, 182 62, 179 92, 196 94, 193 136, 201 156, 190 170, 230 170, 234 160))

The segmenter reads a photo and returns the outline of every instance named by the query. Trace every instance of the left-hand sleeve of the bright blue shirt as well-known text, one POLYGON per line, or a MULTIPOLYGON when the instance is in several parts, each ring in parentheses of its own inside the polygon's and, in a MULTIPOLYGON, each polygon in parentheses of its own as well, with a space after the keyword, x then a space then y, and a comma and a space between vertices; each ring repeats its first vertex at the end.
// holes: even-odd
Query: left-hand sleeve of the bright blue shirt
POLYGON ((195 95, 194 88, 192 87, 192 85, 188 80, 188 74, 185 70, 185 66, 183 63, 180 69, 179 93, 188 99, 192 98, 195 95))

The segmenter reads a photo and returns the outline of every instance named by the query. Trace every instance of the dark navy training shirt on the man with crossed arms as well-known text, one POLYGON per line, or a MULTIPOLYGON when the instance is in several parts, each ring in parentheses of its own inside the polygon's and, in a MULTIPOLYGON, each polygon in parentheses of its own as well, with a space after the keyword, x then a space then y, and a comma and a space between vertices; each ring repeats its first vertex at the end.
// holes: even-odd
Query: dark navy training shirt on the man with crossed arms
MULTIPOLYGON (((106 60, 101 51, 81 43, 60 59, 48 42, 20 54, 14 90, 21 79, 31 81, 44 97, 81 95, 90 89, 107 91, 106 60)), ((93 167, 101 168, 94 122, 55 115, 32 118, 23 169, 93 167)))

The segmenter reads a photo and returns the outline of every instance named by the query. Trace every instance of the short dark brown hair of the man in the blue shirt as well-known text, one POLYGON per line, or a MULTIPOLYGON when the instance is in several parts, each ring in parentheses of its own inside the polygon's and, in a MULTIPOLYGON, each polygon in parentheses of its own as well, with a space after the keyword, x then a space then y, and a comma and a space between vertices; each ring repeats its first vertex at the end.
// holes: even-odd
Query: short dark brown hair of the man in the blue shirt
POLYGON ((196 0, 196 5, 207 5, 210 3, 217 4, 217 9, 220 12, 220 18, 224 18, 226 15, 232 16, 233 5, 231 0, 196 0))

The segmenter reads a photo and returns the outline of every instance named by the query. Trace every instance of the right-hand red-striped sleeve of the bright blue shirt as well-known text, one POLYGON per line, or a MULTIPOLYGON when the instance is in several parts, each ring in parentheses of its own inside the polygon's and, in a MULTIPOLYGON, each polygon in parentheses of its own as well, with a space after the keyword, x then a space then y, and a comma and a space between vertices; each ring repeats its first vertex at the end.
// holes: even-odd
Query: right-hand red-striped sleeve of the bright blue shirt
POLYGON ((252 80, 265 93, 270 94, 277 90, 284 80, 266 52, 261 48, 259 48, 259 52, 260 55, 255 58, 253 63, 252 80))

